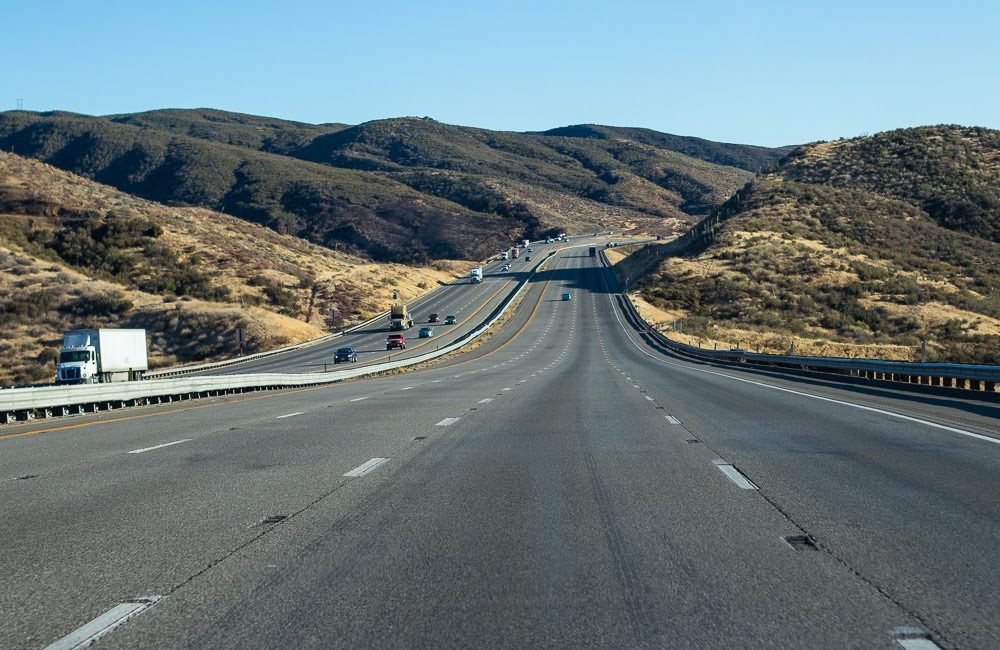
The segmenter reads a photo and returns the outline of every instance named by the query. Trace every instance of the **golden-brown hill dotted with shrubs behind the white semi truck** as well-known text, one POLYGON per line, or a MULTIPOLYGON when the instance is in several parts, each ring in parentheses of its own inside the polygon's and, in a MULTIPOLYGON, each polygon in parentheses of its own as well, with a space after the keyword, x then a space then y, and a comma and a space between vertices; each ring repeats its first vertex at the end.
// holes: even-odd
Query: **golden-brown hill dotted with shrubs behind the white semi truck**
POLYGON ((445 281, 0 152, 0 384, 50 380, 61 333, 144 327, 156 366, 322 335, 445 281))

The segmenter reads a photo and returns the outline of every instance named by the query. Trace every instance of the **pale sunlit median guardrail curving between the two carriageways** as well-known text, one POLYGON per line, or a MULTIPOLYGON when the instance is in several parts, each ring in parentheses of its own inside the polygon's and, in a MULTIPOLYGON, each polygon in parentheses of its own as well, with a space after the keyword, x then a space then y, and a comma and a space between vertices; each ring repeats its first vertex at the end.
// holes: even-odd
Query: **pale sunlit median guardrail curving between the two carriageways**
POLYGON ((550 252, 549 255, 538 260, 528 275, 490 312, 483 322, 452 343, 433 352, 399 361, 387 361, 370 366, 323 373, 254 373, 177 377, 157 381, 130 381, 114 384, 15 388, 0 394, 0 424, 32 420, 36 417, 93 413, 129 406, 161 404, 230 393, 332 384, 431 361, 458 350, 489 329, 506 313, 539 267, 554 254, 554 251, 550 252))

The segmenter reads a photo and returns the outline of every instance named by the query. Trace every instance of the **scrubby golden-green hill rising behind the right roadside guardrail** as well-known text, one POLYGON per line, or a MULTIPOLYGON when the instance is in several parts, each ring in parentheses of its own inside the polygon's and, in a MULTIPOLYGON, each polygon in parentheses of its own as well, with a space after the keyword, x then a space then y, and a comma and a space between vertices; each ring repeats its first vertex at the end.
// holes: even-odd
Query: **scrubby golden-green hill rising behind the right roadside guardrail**
POLYGON ((998 187, 996 131, 810 145, 623 269, 653 269, 640 297, 705 341, 1000 363, 998 187))

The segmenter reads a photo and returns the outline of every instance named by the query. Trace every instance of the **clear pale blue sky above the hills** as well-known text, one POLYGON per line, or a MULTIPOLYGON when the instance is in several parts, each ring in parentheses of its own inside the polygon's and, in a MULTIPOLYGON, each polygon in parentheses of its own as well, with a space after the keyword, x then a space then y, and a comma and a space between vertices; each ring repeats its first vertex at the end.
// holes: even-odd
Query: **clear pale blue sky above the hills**
POLYGON ((37 0, 5 2, 3 23, 2 109, 597 122, 764 145, 1000 128, 992 0, 37 0))

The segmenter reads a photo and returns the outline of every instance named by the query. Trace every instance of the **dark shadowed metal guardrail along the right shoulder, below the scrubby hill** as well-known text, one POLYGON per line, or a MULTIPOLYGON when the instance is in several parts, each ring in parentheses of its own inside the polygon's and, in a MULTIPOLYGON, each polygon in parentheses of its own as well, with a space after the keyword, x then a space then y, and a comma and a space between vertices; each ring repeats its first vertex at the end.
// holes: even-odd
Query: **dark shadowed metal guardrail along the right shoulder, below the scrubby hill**
MULTIPOLYGON (((601 251, 601 261, 611 271, 611 264, 604 256, 604 251, 601 251)), ((628 296, 621 294, 621 297, 622 307, 636 326, 643 329, 663 347, 689 357, 740 365, 758 365, 775 369, 813 371, 873 381, 887 381, 900 384, 903 387, 933 386, 969 391, 970 393, 997 393, 1000 391, 1000 366, 763 354, 739 349, 709 350, 688 345, 665 336, 639 315, 639 311, 628 299, 628 296)))

